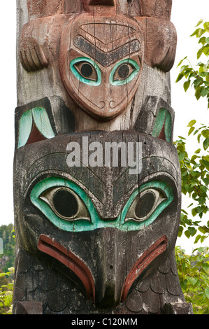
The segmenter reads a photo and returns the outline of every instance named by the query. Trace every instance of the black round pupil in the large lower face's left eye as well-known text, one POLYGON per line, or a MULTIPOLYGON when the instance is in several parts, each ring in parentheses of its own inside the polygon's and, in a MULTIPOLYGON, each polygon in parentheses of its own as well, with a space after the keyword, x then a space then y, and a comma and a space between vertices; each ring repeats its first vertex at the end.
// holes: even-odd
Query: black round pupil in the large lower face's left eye
POLYGON ((78 212, 78 202, 68 190, 59 190, 53 197, 53 203, 58 214, 73 217, 78 212))

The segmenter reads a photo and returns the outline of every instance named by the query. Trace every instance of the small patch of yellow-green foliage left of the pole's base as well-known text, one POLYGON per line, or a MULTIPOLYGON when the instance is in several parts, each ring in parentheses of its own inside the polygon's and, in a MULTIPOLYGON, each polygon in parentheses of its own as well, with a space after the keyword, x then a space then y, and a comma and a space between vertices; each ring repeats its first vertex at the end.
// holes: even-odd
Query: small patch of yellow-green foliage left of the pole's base
POLYGON ((0 314, 12 313, 13 302, 13 277, 14 267, 8 269, 9 272, 0 273, 0 314))

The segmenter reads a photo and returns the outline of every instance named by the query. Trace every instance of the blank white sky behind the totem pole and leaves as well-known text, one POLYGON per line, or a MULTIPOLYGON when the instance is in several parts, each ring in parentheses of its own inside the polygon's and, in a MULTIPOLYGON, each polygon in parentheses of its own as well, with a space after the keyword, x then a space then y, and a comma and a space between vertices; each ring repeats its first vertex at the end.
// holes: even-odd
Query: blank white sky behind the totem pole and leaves
MULTIPOLYGON (((209 20, 208 0, 173 0, 173 11, 171 21, 175 25, 178 34, 178 47, 175 57, 175 64, 171 70, 171 96, 175 111, 174 140, 178 136, 187 137, 187 124, 195 119, 197 123, 208 123, 209 110, 207 111, 206 99, 196 101, 194 90, 189 89, 187 93, 183 90, 182 81, 175 83, 179 68, 176 66, 185 56, 195 66, 199 60, 196 59, 196 52, 199 45, 196 37, 190 37, 199 20, 209 20)), ((1 189, 0 225, 8 225, 14 221, 13 213, 13 153, 14 153, 14 112, 16 101, 16 0, 1 1, 1 112, 0 112, 0 143, 1 143, 1 189)), ((195 139, 189 144, 189 152, 196 151, 195 139)), ((183 197, 182 207, 188 205, 187 198, 183 197)), ((207 242, 208 243, 208 242, 207 242)), ((196 245, 191 239, 178 239, 177 244, 185 248, 187 253, 192 252, 196 245)), ((206 244, 204 244, 206 245, 206 244)))

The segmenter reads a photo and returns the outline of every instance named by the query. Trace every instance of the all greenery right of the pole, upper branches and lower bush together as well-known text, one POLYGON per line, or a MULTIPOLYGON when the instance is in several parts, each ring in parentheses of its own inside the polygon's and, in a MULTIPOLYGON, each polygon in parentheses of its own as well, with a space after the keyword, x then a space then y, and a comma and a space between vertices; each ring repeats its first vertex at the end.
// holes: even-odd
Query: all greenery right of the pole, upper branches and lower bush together
MULTIPOLYGON (((196 99, 206 97, 209 108, 209 37, 207 35, 209 34, 209 22, 200 20, 196 27, 198 28, 191 35, 199 38, 199 44, 201 44, 196 57, 200 59, 202 55, 205 55, 206 60, 199 62, 197 69, 194 69, 186 56, 178 66, 185 61, 188 64, 181 66, 176 82, 185 78, 186 81, 183 84, 185 92, 189 86, 193 86, 196 99), (201 25, 202 27, 200 27, 201 25)), ((189 157, 187 141, 184 137, 179 137, 180 139, 174 143, 180 160, 182 193, 192 198, 192 203, 187 207, 187 211, 189 212, 190 209, 191 214, 189 215, 182 209, 178 235, 181 237, 185 230, 186 237, 188 239, 195 237, 194 243, 196 244, 202 243, 209 237, 209 221, 203 222, 204 215, 208 215, 209 126, 204 123, 196 127, 196 120, 191 120, 187 127, 189 127, 188 136, 196 136, 199 148, 194 151, 192 157, 189 157), (194 220, 194 217, 197 219, 194 220)), ((209 314, 209 248, 201 247, 194 251, 197 251, 195 255, 186 255, 180 247, 175 248, 180 284, 185 300, 193 304, 194 313, 209 314)))

